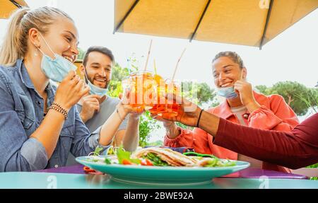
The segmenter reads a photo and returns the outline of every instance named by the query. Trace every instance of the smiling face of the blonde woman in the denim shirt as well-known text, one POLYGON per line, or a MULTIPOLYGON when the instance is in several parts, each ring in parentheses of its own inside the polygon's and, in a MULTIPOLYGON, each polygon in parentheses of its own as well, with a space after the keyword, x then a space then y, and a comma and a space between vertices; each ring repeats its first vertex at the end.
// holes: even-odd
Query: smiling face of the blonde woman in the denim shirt
POLYGON ((42 37, 39 34, 38 39, 40 50, 52 59, 55 58, 55 53, 70 62, 75 62, 78 55, 78 32, 73 21, 69 18, 64 16, 57 17, 57 20, 49 25, 47 33, 42 33, 42 37), (52 53, 48 46, 51 47, 54 53, 52 53))

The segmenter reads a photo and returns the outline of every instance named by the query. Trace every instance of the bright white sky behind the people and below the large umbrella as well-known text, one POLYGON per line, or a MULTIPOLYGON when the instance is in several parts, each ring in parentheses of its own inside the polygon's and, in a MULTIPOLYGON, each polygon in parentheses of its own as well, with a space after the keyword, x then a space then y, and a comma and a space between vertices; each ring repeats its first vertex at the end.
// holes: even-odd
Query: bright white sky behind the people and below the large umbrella
MULTIPOLYGON (((61 8, 76 23, 81 49, 86 50, 92 45, 108 47, 114 52, 115 59, 121 66, 127 66, 126 59, 135 53, 143 68, 149 42, 153 39, 148 69, 153 70, 153 59, 155 59, 158 74, 164 78, 172 77, 179 55, 184 47, 189 45, 179 63, 176 79, 206 82, 214 88, 211 61, 218 52, 231 50, 242 57, 247 66, 248 80, 253 86, 272 86, 278 81, 298 81, 312 88, 318 81, 318 10, 295 23, 259 50, 257 47, 196 40, 189 44, 189 40, 129 33, 113 35, 113 0, 26 0, 26 2, 30 7, 61 8)), ((0 20, 0 43, 7 23, 7 20, 0 20)), ((164 134, 165 130, 162 127, 152 133, 151 141, 163 140, 164 134)))

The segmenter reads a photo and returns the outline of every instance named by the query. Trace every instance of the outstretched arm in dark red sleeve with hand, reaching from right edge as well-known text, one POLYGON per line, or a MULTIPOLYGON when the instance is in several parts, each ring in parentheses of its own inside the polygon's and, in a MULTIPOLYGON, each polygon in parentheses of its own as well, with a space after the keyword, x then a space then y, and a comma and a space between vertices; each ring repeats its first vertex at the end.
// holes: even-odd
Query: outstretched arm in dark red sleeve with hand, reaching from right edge
POLYGON ((291 132, 278 132, 223 120, 206 111, 201 112, 199 107, 184 98, 175 97, 182 100, 179 115, 163 118, 203 129, 215 137, 213 143, 218 146, 292 169, 318 162, 318 113, 291 132))

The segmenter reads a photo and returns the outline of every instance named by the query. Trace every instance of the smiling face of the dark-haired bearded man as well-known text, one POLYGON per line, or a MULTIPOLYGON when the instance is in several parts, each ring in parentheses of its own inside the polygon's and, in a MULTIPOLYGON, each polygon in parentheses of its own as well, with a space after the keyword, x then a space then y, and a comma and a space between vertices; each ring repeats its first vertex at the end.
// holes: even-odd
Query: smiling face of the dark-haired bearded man
POLYGON ((81 65, 82 74, 87 74, 88 80, 100 88, 107 88, 112 78, 112 59, 100 52, 90 52, 86 66, 81 65))

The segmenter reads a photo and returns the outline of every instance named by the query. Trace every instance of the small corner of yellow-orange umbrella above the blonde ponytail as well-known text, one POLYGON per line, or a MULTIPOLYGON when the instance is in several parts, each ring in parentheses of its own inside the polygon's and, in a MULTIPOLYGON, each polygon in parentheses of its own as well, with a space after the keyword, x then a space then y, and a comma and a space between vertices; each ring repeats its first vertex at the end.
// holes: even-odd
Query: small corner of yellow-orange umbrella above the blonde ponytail
POLYGON ((0 18, 8 18, 17 8, 28 7, 23 0, 0 0, 0 18))

